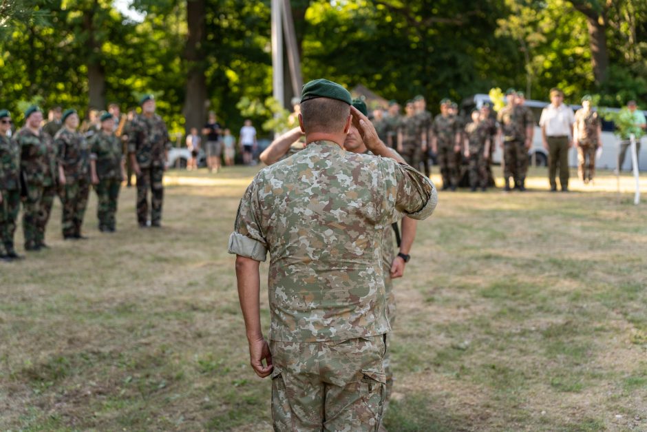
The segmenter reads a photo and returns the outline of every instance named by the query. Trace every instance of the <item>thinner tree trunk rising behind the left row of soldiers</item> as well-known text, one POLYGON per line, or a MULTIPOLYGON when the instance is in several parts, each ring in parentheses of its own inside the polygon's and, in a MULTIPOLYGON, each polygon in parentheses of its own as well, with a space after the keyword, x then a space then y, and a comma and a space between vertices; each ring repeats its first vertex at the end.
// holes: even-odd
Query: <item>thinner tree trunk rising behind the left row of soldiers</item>
POLYGON ((96 110, 105 110, 105 70, 101 64, 101 43, 96 40, 94 15, 99 8, 98 0, 92 2, 92 7, 83 12, 83 30, 87 36, 87 87, 88 105, 96 110))

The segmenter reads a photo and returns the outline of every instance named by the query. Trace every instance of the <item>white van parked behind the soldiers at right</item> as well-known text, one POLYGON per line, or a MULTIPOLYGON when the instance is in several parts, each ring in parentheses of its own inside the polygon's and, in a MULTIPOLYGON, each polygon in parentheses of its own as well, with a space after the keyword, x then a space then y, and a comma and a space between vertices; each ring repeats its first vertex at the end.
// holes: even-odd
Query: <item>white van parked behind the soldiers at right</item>
MULTIPOLYGON (((463 99, 463 102, 460 104, 461 114, 469 118, 469 113, 471 110, 480 108, 484 103, 491 103, 491 99, 487 94, 474 94, 466 99, 463 99)), ((533 136, 533 145, 528 151, 528 156, 530 158, 531 164, 537 166, 547 166, 548 165, 548 152, 544 150, 544 145, 542 144, 542 130, 539 127, 539 119, 542 115, 542 110, 546 105, 549 105, 549 102, 544 101, 535 101, 532 99, 527 99, 525 106, 529 107, 533 112, 535 117, 535 134, 533 136)), ((579 110, 582 105, 569 105, 573 112, 579 110)), ((618 112, 619 108, 605 108, 605 110, 610 112, 618 112)), ((647 115, 647 112, 645 112, 647 115)), ((595 163, 595 166, 600 169, 615 169, 617 163, 617 152, 620 145, 619 139, 615 134, 613 134, 614 125, 612 121, 602 121, 602 155, 600 159, 595 163)), ((646 141, 646 140, 643 140, 646 141)), ((494 163, 501 163, 503 157, 503 152, 501 148, 497 145, 492 154, 492 160, 494 163)), ((569 165, 571 167, 577 167, 577 150, 575 148, 571 149, 569 153, 569 165)), ((626 157, 624 158, 624 165, 622 167, 625 170, 631 168, 631 156, 627 152, 626 157)), ((641 170, 647 170, 647 143, 641 146, 640 156, 639 156, 639 168, 641 170)))

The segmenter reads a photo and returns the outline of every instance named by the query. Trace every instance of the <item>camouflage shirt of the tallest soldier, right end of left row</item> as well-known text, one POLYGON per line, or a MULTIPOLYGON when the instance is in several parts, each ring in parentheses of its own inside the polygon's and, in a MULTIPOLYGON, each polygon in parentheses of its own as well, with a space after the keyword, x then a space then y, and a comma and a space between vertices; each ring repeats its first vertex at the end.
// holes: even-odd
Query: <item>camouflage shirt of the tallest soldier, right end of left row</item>
POLYGON ((162 117, 153 114, 151 118, 139 115, 133 119, 128 130, 128 152, 135 154, 140 167, 163 167, 168 150, 171 141, 162 117))

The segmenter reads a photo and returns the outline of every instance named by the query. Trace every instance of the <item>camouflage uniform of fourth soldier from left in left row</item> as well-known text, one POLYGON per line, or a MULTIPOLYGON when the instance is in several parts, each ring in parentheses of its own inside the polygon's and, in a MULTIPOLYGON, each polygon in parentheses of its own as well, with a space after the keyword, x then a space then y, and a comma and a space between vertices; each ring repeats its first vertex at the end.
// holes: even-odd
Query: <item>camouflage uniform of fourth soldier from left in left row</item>
POLYGON ((89 141, 90 158, 96 161, 96 175, 99 183, 94 187, 98 198, 96 216, 100 231, 114 231, 115 213, 119 188, 121 187, 121 140, 115 134, 100 131, 89 141))

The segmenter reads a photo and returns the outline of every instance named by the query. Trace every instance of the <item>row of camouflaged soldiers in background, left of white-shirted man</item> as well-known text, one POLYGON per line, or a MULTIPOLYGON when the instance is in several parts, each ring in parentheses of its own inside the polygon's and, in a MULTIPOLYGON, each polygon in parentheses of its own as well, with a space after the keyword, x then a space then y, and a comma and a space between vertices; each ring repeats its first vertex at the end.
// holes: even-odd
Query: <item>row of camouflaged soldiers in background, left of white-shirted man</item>
POLYGON ((405 115, 401 116, 396 101, 390 101, 388 112, 374 110, 375 129, 384 143, 398 150, 414 167, 423 165, 431 174, 430 158, 436 158, 443 178, 443 190, 456 190, 462 177, 464 158, 469 165, 469 185, 473 191, 494 185, 491 172, 494 145, 500 139, 504 150, 505 189, 525 190, 528 169, 527 151, 533 139, 533 114, 524 104, 522 92, 509 89, 507 105, 494 115, 491 105, 473 110, 464 121, 458 114, 458 105, 443 99, 440 114, 435 117, 427 111, 424 96, 407 101, 405 115))

